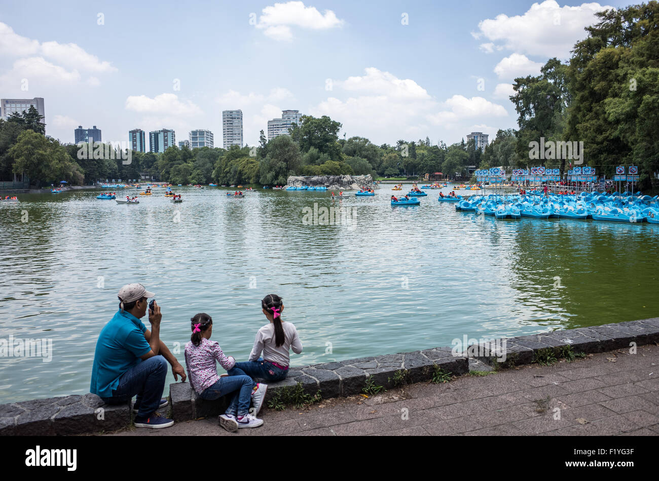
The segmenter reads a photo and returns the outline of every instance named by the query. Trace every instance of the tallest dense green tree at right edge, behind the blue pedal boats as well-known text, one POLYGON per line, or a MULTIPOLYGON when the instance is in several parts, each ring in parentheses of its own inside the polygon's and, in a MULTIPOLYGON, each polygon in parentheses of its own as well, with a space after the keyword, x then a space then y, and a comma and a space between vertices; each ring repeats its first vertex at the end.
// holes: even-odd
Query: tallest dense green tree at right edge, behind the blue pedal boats
POLYGON ((658 188, 659 3, 596 14, 569 66, 573 95, 567 132, 583 141, 602 173, 637 165, 641 187, 658 188))

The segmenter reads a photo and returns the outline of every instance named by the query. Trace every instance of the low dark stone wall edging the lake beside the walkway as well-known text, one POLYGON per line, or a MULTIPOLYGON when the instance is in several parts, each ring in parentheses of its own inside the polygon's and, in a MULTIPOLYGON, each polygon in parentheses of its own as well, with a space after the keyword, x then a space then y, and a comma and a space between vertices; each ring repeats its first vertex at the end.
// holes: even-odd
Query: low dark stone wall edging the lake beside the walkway
MULTIPOLYGON (((399 370, 403 370, 408 382, 431 379, 434 366, 460 376, 469 372, 469 359, 492 364, 492 360, 498 357, 492 348, 501 341, 482 343, 466 349, 461 355, 455 355, 451 347, 434 347, 409 353, 292 367, 285 380, 268 386, 266 401, 279 390, 293 388, 298 383, 302 384, 307 394, 314 395, 320 390, 322 397, 338 397, 360 393, 369 378, 375 384, 392 387, 391 378, 399 370), (485 351, 486 348, 490 350, 485 351)), ((659 342, 659 318, 559 330, 506 338, 505 341, 505 365, 529 364, 540 349, 571 345, 575 352, 597 353, 627 348, 630 342, 637 345, 659 342)), ((228 403, 227 397, 215 401, 200 399, 190 388, 189 382, 170 384, 169 397, 171 417, 176 421, 220 415, 228 403)), ((130 418, 128 404, 106 405, 100 397, 90 393, 34 399, 0 405, 0 436, 55 436, 113 431, 130 426, 130 418)))

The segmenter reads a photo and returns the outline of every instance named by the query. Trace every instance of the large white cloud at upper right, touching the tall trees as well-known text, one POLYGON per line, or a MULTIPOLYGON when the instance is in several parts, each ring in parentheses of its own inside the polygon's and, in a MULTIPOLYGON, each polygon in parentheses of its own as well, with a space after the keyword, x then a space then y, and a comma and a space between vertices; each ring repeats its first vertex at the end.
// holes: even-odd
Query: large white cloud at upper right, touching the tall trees
MULTIPOLYGON (((578 7, 560 7, 555 0, 534 3, 523 15, 497 15, 478 23, 474 38, 490 40, 498 47, 544 57, 569 59, 570 50, 577 41, 585 39, 586 26, 598 22, 595 13, 614 7, 599 3, 582 3, 578 7)), ((487 49, 484 43, 482 49, 487 49)))

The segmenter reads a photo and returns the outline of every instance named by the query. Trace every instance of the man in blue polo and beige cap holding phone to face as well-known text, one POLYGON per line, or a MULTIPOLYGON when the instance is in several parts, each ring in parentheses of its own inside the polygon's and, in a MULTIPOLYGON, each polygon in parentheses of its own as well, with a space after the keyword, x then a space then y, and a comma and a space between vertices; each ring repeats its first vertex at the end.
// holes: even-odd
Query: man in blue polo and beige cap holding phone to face
POLYGON ((167 362, 171 364, 174 379, 185 381, 185 370, 160 340, 160 307, 154 302, 149 310, 151 330, 140 318, 146 315, 148 298, 154 293, 142 284, 127 284, 119 290, 119 311, 105 324, 96 343, 90 392, 108 404, 127 403, 137 395, 137 428, 168 428, 171 419, 156 413, 167 405, 161 399, 165 389, 167 362))

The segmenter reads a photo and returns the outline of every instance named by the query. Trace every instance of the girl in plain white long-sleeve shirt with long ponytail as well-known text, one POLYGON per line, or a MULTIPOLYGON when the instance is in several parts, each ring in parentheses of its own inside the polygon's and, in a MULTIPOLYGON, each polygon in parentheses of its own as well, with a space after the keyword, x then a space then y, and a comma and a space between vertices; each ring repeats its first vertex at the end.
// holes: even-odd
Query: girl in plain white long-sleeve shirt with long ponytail
POLYGON ((281 320, 281 313, 284 310, 281 297, 276 294, 266 295, 261 301, 261 308, 270 323, 256 333, 249 360, 236 363, 235 367, 227 372, 229 376, 247 374, 252 378, 262 378, 268 382, 281 381, 286 378, 288 372, 289 349, 300 354, 302 343, 295 326, 291 322, 281 320))

